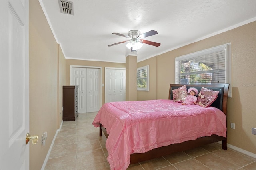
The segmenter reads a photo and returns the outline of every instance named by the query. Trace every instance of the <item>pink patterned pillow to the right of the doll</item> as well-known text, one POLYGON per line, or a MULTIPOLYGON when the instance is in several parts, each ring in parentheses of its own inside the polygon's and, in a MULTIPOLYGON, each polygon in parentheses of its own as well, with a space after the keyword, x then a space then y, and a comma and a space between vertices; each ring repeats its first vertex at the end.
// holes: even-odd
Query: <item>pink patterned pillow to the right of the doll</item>
POLYGON ((197 97, 197 105, 202 107, 209 107, 218 97, 219 91, 213 91, 202 87, 197 97))

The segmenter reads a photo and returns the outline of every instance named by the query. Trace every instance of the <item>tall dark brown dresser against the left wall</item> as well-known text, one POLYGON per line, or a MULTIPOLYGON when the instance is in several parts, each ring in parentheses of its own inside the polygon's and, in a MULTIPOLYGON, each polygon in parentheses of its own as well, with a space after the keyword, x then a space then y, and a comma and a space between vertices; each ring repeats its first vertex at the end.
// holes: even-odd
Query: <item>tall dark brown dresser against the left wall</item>
POLYGON ((63 121, 75 121, 78 116, 78 86, 63 86, 63 121))

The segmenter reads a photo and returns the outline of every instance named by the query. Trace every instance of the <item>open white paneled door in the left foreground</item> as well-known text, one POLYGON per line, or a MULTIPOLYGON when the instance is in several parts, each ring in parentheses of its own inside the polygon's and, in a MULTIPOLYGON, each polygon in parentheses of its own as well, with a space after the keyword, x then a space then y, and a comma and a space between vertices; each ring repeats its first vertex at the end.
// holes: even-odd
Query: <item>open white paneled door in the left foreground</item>
POLYGON ((29 169, 28 0, 0 0, 0 169, 29 169))

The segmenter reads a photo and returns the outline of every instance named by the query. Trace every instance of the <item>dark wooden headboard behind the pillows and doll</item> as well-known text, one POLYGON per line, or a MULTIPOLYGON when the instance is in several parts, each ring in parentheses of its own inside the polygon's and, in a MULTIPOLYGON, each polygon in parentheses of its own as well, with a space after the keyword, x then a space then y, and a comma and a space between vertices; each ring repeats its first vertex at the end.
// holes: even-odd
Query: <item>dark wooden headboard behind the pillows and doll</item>
MULTIPOLYGON (((178 89, 179 87, 183 86, 184 84, 170 84, 169 89, 169 99, 173 100, 172 98, 172 90, 178 89)), ((201 90, 202 87, 207 89, 211 89, 214 91, 219 91, 218 98, 216 101, 212 103, 211 106, 220 109, 222 112, 227 115, 227 100, 228 100, 228 87, 229 84, 194 84, 194 85, 186 85, 187 89, 190 87, 195 87, 198 91, 201 90)))

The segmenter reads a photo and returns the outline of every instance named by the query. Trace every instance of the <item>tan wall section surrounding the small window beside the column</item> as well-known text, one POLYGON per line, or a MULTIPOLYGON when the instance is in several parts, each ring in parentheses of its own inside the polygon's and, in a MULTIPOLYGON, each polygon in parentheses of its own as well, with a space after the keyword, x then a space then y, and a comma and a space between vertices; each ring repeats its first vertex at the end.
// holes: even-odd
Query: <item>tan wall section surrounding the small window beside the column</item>
POLYGON ((145 61, 138 63, 138 68, 149 65, 149 92, 148 91, 137 91, 138 93, 138 101, 141 100, 154 100, 157 98, 156 96, 156 85, 157 85, 157 62, 156 57, 152 57, 145 61))

